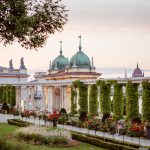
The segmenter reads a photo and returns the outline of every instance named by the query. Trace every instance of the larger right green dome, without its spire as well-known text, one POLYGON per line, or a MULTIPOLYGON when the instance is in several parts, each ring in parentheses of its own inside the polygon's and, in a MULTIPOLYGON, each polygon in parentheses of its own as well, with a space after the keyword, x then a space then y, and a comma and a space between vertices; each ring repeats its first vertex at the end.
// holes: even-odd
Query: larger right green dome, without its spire
POLYGON ((70 59, 70 66, 77 66, 79 68, 89 68, 91 67, 91 62, 89 57, 82 51, 78 51, 70 59))

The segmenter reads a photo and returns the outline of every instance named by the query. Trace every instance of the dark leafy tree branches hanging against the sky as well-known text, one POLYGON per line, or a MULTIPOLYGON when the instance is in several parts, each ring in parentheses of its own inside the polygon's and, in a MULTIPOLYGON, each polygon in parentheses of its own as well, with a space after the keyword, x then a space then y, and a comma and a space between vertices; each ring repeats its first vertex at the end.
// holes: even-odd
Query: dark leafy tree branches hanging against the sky
POLYGON ((49 34, 67 22, 62 0, 0 0, 0 42, 19 42, 26 49, 42 47, 49 34))

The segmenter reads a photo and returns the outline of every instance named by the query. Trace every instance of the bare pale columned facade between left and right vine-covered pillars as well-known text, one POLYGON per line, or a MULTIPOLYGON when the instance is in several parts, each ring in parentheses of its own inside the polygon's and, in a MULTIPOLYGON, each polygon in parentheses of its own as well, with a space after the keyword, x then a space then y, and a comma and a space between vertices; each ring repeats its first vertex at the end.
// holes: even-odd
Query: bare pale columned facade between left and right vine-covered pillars
POLYGON ((53 112, 61 108, 70 110, 70 86, 16 86, 16 106, 22 110, 48 110, 53 112), (35 99, 37 87, 40 89, 41 98, 35 99))

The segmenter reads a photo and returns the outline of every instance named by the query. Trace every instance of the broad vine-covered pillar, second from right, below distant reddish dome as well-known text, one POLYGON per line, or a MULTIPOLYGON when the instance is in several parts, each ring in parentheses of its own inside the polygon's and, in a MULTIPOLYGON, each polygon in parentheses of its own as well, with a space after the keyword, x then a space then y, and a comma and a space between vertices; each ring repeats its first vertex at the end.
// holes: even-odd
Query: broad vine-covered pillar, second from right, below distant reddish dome
POLYGON ((126 85, 126 120, 139 116, 138 84, 128 81, 126 85))

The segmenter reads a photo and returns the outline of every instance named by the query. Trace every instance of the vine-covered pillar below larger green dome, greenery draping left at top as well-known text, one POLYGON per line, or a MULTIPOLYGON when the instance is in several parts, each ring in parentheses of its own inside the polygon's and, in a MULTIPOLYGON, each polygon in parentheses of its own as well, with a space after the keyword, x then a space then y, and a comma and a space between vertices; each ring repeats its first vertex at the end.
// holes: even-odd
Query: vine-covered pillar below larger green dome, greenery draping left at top
POLYGON ((83 82, 77 80, 73 82, 73 86, 77 87, 79 90, 79 113, 85 111, 88 113, 88 85, 83 82))

